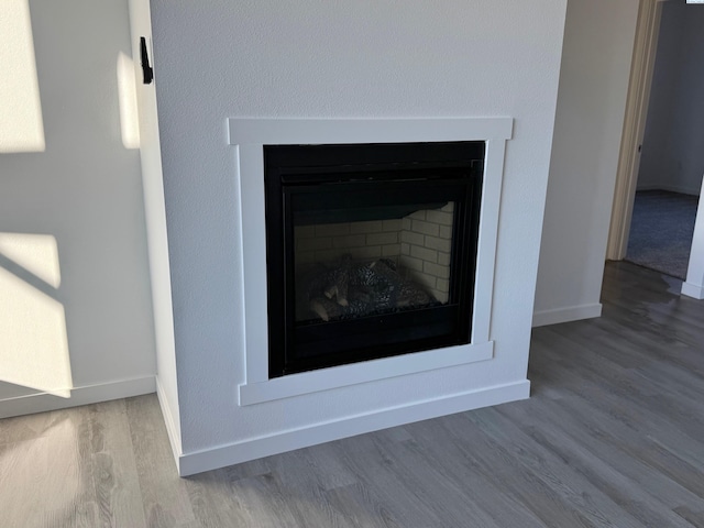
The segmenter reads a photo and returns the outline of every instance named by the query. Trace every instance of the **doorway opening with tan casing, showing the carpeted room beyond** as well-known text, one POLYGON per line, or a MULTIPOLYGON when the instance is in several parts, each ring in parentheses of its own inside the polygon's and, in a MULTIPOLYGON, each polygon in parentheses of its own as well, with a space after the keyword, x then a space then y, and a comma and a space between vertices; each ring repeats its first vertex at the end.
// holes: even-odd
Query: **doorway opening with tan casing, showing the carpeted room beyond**
POLYGON ((704 174, 704 7, 641 6, 608 260, 686 279, 704 174))

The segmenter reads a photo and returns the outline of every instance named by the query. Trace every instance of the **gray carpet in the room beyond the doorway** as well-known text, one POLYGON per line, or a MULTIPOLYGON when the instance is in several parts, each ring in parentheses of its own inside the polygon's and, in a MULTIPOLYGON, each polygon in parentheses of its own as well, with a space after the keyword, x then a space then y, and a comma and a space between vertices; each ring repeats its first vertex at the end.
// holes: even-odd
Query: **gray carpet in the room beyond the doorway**
POLYGON ((697 196, 636 193, 626 261, 686 278, 697 204, 697 196))

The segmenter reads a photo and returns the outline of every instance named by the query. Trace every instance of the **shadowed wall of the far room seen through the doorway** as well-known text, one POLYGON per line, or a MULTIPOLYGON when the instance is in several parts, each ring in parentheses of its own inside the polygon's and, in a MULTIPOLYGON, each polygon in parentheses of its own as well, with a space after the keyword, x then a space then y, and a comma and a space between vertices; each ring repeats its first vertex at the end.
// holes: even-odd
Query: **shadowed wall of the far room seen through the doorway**
POLYGON ((704 6, 663 2, 638 189, 698 195, 704 175, 704 6))

